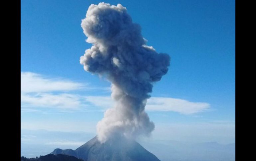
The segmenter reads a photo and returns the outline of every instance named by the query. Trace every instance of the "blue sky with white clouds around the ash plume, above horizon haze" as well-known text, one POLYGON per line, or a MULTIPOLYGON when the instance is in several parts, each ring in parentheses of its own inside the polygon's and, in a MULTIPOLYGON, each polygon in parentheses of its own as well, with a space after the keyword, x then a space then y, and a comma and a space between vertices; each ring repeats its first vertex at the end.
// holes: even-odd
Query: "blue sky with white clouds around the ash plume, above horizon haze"
MULTIPOLYGON (((21 0, 22 129, 96 131, 111 106, 110 83, 85 72, 79 58, 91 47, 81 20, 99 2, 21 0)), ((235 1, 104 2, 126 7, 147 45, 171 56, 146 106, 153 136, 163 137, 159 131, 169 125, 165 139, 188 133, 180 139, 235 142, 235 1), (193 133, 208 127, 205 139, 193 133)))

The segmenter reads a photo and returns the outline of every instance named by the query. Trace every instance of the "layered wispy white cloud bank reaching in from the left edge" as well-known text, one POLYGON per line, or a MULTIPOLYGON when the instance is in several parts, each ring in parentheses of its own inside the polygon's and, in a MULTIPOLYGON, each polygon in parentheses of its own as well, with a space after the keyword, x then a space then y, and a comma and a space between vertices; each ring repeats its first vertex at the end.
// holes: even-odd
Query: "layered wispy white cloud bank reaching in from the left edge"
POLYGON ((51 107, 59 109, 77 109, 86 107, 84 98, 70 94, 71 90, 109 90, 92 87, 63 78, 50 78, 45 75, 21 72, 21 111, 38 112, 32 107, 51 107), (54 93, 55 92, 55 93, 54 93), (57 93, 56 93, 57 92, 57 93), (28 110, 28 108, 30 108, 28 110))

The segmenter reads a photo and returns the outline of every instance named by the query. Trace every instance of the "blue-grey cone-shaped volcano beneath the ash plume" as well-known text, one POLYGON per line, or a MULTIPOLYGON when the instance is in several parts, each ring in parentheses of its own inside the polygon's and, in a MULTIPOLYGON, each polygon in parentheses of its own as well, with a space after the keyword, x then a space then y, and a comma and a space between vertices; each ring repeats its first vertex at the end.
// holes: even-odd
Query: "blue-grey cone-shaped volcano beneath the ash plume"
POLYGON ((85 161, 160 161, 138 142, 125 137, 112 137, 100 143, 97 136, 72 149, 55 149, 51 154, 66 154, 85 161))

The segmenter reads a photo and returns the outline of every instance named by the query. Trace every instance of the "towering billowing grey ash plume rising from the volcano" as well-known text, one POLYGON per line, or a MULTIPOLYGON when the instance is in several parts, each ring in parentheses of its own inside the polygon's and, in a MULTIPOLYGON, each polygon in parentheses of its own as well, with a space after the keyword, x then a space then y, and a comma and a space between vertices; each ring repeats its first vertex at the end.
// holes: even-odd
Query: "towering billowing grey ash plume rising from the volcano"
POLYGON ((115 100, 115 106, 97 124, 99 141, 115 134, 149 135, 155 125, 144 111, 146 101, 152 83, 167 73, 170 56, 146 45, 140 26, 121 4, 90 5, 81 26, 86 41, 93 45, 85 50, 80 63, 87 72, 105 75, 111 81, 115 100))

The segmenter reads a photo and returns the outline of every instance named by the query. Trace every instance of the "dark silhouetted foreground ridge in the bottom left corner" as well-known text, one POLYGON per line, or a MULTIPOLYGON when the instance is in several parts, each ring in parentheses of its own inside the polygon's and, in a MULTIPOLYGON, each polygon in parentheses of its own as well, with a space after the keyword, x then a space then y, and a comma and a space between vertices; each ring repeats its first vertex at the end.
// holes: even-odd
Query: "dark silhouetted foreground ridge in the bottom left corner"
POLYGON ((48 154, 45 156, 40 156, 39 158, 26 158, 26 157, 21 157, 21 161, 84 161, 82 159, 77 159, 74 156, 70 155, 64 155, 64 154, 48 154))

